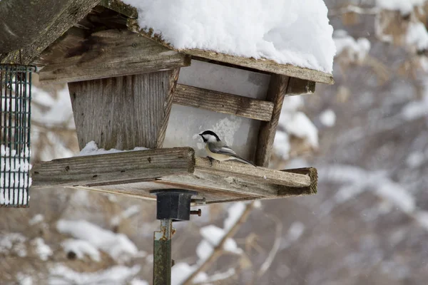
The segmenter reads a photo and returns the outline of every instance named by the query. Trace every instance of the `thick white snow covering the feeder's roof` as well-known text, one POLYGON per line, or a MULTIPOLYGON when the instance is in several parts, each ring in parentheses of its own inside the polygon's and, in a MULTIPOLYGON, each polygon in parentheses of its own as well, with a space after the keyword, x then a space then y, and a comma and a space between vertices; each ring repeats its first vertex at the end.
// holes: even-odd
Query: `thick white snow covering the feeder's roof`
POLYGON ((333 28, 322 0, 124 0, 138 24, 177 49, 199 48, 332 73, 333 28))

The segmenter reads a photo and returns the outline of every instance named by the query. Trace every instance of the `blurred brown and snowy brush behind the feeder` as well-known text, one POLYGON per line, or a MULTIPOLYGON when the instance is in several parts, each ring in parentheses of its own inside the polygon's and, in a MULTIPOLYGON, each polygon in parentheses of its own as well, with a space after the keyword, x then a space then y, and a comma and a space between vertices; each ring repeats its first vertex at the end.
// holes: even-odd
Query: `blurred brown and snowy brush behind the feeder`
MULTIPOLYGON (((271 160, 317 167, 318 194, 205 206, 175 224, 173 284, 192 272, 185 284, 427 284, 428 1, 325 4, 335 85, 285 99, 271 160), (235 223, 232 245, 199 271, 218 250, 204 229, 235 223)), ((66 86, 33 88, 33 163, 75 155, 66 86)), ((153 202, 47 189, 30 203, 0 208, 1 284, 151 284, 153 202), (61 228, 69 221, 123 247, 82 242, 61 228)))

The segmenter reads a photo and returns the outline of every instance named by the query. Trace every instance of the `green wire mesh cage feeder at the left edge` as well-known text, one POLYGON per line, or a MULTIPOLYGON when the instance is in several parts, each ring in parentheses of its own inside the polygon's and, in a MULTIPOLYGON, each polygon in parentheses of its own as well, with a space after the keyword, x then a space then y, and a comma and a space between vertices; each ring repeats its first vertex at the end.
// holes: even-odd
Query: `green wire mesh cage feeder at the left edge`
POLYGON ((34 71, 34 66, 0 65, 0 207, 29 206, 34 71))

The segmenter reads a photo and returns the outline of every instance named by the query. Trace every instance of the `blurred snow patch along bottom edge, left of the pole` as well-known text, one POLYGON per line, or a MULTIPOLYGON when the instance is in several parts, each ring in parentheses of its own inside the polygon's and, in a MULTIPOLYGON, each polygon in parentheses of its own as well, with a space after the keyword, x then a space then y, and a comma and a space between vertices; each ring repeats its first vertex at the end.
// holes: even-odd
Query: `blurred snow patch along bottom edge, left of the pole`
POLYGON ((50 285, 68 285, 68 284, 93 284, 93 285, 126 285, 128 280, 133 278, 140 266, 133 267, 113 266, 110 269, 96 272, 77 272, 61 264, 54 266, 49 270, 50 285))

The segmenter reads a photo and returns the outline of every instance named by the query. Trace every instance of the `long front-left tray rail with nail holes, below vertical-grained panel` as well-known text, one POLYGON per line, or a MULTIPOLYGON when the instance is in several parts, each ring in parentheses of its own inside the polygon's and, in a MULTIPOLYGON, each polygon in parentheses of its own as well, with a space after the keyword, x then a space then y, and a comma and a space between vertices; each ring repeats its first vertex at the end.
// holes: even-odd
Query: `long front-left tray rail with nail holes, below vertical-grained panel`
POLYGON ((32 187, 150 181, 165 175, 193 173, 194 164, 195 151, 190 147, 71 157, 34 165, 32 187))

